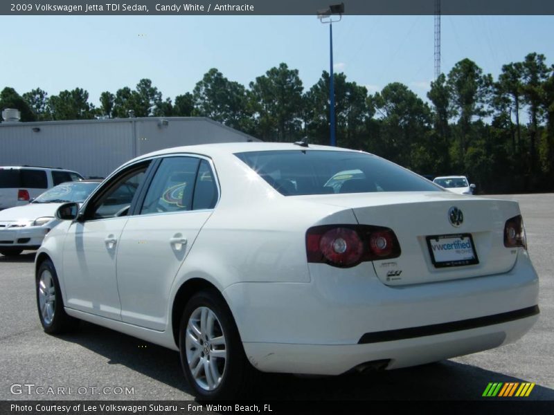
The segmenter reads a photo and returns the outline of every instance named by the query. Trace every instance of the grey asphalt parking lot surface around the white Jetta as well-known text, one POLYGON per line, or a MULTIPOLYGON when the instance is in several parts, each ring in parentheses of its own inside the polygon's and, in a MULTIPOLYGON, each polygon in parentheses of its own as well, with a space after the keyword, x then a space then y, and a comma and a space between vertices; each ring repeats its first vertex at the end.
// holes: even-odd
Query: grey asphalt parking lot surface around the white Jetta
MULTIPOLYGON (((497 197, 519 201, 541 277, 541 316, 530 333, 515 344, 422 367, 333 378, 263 376, 258 398, 474 400, 488 382, 535 382, 526 399, 554 400, 554 194, 497 197)), ((0 400, 192 398, 175 351, 93 324, 71 335, 46 335, 36 311, 34 257, 0 255, 0 400), (64 387, 66 395, 12 386, 23 384, 64 387), (70 388, 74 395, 67 395, 70 388)))

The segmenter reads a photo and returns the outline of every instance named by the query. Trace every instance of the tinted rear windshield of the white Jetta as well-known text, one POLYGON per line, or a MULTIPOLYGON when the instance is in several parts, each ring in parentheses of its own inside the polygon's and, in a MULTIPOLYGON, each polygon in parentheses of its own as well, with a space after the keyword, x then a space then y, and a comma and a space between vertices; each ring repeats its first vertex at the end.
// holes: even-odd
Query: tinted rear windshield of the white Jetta
POLYGON ((285 196, 365 192, 440 192, 383 158, 355 151, 277 150, 235 154, 285 196))

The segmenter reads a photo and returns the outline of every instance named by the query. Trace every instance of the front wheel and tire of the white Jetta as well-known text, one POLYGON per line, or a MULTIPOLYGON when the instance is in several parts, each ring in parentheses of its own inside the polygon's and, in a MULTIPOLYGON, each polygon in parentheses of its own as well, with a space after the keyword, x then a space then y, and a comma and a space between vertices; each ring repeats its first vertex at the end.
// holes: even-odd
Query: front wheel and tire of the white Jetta
POLYGON ((46 259, 39 266, 36 278, 37 308, 42 328, 48 334, 73 331, 79 320, 67 315, 64 310, 62 291, 57 281, 54 264, 46 259))

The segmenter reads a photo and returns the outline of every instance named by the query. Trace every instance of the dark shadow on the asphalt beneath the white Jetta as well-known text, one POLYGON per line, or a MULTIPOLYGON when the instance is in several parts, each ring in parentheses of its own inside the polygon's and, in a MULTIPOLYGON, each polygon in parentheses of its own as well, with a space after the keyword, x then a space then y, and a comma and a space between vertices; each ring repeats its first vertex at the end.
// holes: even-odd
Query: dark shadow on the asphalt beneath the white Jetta
MULTIPOLYGON (((60 340, 82 347, 125 365, 170 387, 191 394, 181 371, 179 353, 129 335, 82 322, 80 329, 60 336, 60 340)), ((397 369, 328 377, 300 377, 261 374, 253 398, 257 400, 481 400, 489 382, 533 382, 473 365, 441 362, 397 369)), ((139 397, 137 397, 139 398, 139 397)), ((183 399, 187 397, 184 396, 183 399)), ((554 390, 535 385, 528 398, 514 400, 554 400, 554 390)))

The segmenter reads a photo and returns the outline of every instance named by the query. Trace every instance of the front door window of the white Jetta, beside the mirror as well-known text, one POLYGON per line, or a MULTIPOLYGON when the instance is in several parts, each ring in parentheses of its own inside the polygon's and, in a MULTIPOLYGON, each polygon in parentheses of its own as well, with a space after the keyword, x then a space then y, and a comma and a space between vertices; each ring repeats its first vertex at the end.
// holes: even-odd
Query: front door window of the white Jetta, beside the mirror
POLYGON ((106 219, 127 215, 136 190, 144 181, 148 165, 150 165, 150 161, 135 166, 112 180, 107 191, 100 194, 100 198, 92 201, 90 207, 87 208, 87 212, 85 212, 87 219, 106 219))

